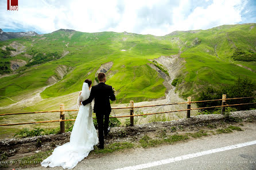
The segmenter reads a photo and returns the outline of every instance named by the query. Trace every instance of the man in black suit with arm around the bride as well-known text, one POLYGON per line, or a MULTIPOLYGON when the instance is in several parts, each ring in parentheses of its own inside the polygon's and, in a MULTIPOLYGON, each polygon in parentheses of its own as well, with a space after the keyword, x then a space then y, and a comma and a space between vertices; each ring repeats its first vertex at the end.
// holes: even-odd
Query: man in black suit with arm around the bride
POLYGON ((110 101, 115 100, 115 90, 112 86, 106 85, 106 74, 98 74, 99 84, 92 86, 91 94, 87 100, 81 101, 82 105, 87 105, 94 100, 94 113, 96 113, 96 118, 98 122, 98 132, 99 132, 99 145, 98 148, 104 149, 104 136, 108 133, 108 120, 111 112, 110 101), (104 118, 104 124, 103 124, 104 118), (104 131, 104 136, 103 136, 104 131))

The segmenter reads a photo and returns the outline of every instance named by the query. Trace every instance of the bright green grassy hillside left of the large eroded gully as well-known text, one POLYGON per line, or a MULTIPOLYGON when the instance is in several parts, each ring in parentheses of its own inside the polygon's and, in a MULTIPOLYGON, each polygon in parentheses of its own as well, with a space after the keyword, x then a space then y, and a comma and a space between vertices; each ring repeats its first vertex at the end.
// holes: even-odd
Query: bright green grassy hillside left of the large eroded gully
POLYGON ((0 45, 7 46, 13 41, 26 46, 26 52, 6 58, 9 61, 29 61, 25 57, 26 53, 32 55, 33 60, 38 54, 42 54, 42 57, 44 54, 47 57, 48 54, 61 54, 64 51, 69 54, 40 65, 25 66, 18 70, 18 74, 1 78, 0 106, 13 103, 12 100, 19 101, 26 93, 48 85, 48 78, 57 76, 55 70, 59 65, 66 65, 71 71, 61 81, 46 88, 41 96, 49 98, 77 92, 81 90, 84 79, 94 80, 96 70, 101 64, 109 61, 114 63, 110 71, 115 74, 107 84, 113 85, 117 90, 117 102, 127 102, 134 96, 138 101, 159 98, 164 96, 166 90, 162 85, 164 80, 147 65, 150 62, 148 59, 179 52, 177 45, 170 44, 162 37, 130 33, 81 33, 59 30, 37 37, 1 42, 0 45), (88 72, 91 73, 86 76, 88 72), (131 78, 134 81, 130 81, 131 78))

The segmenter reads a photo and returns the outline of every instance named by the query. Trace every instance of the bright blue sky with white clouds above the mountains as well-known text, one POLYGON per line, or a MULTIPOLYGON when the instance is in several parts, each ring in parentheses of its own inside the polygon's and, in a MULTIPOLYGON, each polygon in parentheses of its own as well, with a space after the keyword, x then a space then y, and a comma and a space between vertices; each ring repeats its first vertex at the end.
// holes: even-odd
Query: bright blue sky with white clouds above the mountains
POLYGON ((0 28, 38 34, 73 29, 166 35, 256 22, 256 0, 18 0, 18 11, 7 11, 7 1, 0 0, 0 28))

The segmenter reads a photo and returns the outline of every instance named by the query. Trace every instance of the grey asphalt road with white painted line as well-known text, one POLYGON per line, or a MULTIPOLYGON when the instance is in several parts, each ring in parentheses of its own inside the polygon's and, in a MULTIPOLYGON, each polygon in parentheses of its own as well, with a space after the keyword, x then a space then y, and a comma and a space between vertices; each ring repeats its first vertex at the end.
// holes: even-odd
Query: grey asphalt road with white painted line
POLYGON ((73 169, 256 169, 256 124, 242 129, 245 131, 174 145, 130 149, 97 158, 89 156, 73 169))

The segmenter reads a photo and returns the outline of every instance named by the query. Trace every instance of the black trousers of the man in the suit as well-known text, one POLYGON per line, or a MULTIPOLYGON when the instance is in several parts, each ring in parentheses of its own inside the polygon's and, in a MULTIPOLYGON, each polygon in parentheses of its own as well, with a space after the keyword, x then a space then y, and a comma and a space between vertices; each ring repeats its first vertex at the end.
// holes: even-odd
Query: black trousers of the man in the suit
POLYGON ((97 112, 96 118, 98 123, 99 132, 99 145, 104 146, 104 135, 107 136, 107 128, 109 121, 110 112, 97 112), (103 123, 104 119, 104 123, 103 123))

